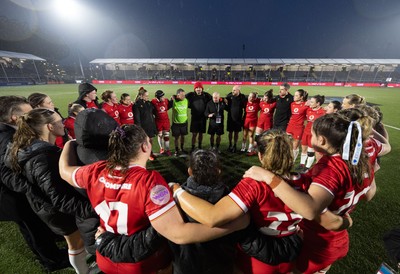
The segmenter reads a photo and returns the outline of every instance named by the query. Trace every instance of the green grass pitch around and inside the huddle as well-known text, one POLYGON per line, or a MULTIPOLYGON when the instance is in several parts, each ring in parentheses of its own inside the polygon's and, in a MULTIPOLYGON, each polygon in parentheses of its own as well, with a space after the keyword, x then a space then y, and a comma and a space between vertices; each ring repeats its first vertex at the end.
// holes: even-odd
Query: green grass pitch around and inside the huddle
MULTIPOLYGON (((114 90, 118 97, 123 93, 129 93, 134 99, 140 85, 96 85, 98 96, 106 89, 114 90)), ((149 91, 150 98, 154 92, 162 89, 169 98, 178 88, 186 92, 192 91, 192 85, 144 85, 149 91)), ((242 93, 257 91, 263 94, 269 88, 273 88, 274 94, 279 89, 277 86, 243 86, 242 93)), ((389 229, 400 226, 400 198, 399 198, 399 145, 400 145, 400 89, 395 88, 356 88, 356 87, 295 87, 291 88, 292 94, 297 88, 304 88, 309 94, 321 94, 327 97, 343 98, 351 93, 364 96, 369 103, 377 104, 384 114, 383 122, 387 126, 390 136, 392 152, 381 159, 381 170, 376 174, 377 194, 369 202, 360 202, 352 213, 354 225, 349 229, 350 251, 346 258, 336 262, 329 273, 376 273, 381 262, 386 261, 392 266, 393 262, 387 257, 382 243, 383 234, 389 229)), ((226 96, 232 86, 205 85, 209 93, 219 92, 226 96)), ((2 95, 28 96, 33 92, 48 94, 61 113, 67 115, 67 105, 73 102, 78 95, 78 85, 37 85, 0 87, 2 95)), ((185 147, 190 149, 190 138, 186 137, 185 147)), ((240 137, 241 138, 241 135, 240 137)), ((227 134, 222 138, 222 164, 224 167, 223 178, 229 185, 240 180, 244 171, 251 165, 257 165, 256 157, 246 157, 240 154, 229 154, 227 148, 227 134)), ((173 142, 171 148, 173 149, 173 142)), ((209 137, 204 135, 203 147, 209 146, 209 137)), ((157 142, 154 142, 154 151, 158 151, 157 142)), ((187 168, 184 158, 160 157, 154 162, 148 163, 149 169, 158 170, 167 181, 183 182, 187 177, 187 168)), ((0 222, 0 273, 42 273, 43 270, 35 262, 34 256, 26 247, 17 227, 10 222, 0 222)), ((74 273, 72 269, 57 273, 74 273)))

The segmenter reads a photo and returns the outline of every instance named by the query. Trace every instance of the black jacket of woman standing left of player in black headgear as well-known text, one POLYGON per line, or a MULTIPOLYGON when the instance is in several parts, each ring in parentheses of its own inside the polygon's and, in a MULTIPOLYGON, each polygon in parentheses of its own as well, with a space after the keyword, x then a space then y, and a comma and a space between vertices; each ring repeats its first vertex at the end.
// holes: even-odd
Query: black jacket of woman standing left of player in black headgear
POLYGON ((157 134, 154 111, 153 104, 143 99, 137 100, 133 105, 135 124, 141 126, 149 138, 153 138, 157 134))

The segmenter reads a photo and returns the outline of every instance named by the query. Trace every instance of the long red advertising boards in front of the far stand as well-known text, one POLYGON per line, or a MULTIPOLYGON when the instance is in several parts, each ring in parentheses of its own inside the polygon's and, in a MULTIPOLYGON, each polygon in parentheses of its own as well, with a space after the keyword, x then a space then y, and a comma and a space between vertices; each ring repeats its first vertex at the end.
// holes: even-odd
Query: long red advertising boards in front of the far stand
MULTIPOLYGON (((153 81, 153 80, 93 80, 93 84, 125 85, 193 85, 196 81, 153 81)), ((246 86, 279 86, 284 82, 239 82, 239 81, 201 81, 203 85, 246 85, 246 86)), ((400 87, 396 83, 345 83, 345 82, 288 82, 291 86, 321 87, 400 87)))

